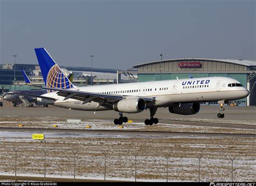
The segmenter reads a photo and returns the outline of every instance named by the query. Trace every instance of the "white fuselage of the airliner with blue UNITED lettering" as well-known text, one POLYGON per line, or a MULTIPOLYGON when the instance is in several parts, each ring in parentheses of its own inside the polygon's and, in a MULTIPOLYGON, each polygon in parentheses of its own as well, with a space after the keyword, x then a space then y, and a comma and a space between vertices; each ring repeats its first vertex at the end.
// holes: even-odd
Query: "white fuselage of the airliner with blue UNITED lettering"
MULTIPOLYGON (((247 97, 248 90, 239 81, 226 77, 208 77, 177 79, 163 81, 133 82, 126 84, 112 84, 99 86, 86 86, 72 88, 83 92, 101 94, 122 95, 126 99, 134 97, 154 98, 156 101, 147 103, 146 107, 169 107, 173 104, 184 102, 209 102, 218 100, 237 100, 247 97)), ((106 111, 113 109, 111 106, 99 106, 91 101, 82 104, 83 101, 60 97, 56 92, 43 94, 44 97, 57 99, 54 102, 48 100, 39 101, 59 107, 78 109, 83 111, 106 111), (96 108, 97 107, 97 108, 96 108)))

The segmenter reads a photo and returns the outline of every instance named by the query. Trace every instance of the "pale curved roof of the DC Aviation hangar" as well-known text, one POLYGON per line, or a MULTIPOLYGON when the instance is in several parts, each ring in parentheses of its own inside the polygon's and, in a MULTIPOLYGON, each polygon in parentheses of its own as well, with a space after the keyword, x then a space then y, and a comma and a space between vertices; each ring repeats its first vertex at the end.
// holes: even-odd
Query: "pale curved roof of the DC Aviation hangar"
MULTIPOLYGON (((207 60, 207 61, 219 61, 219 62, 225 62, 225 63, 232 63, 232 64, 238 64, 238 65, 244 65, 244 66, 256 66, 256 60, 242 60, 242 59, 206 59, 206 58, 183 58, 183 59, 167 59, 162 60, 162 62, 166 61, 179 61, 179 60, 207 60)), ((139 66, 143 65, 150 65, 154 63, 160 63, 160 61, 152 61, 148 63, 142 63, 139 65, 132 66, 133 68, 137 68, 139 66)))

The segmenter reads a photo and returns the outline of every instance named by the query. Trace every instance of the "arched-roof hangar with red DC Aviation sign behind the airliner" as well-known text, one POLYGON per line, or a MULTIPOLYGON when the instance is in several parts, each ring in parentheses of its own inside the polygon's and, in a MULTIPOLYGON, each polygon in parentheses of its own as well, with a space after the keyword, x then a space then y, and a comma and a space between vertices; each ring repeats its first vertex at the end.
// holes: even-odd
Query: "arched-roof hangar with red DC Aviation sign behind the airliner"
MULTIPOLYGON (((238 80, 251 94, 244 99, 233 101, 238 105, 256 105, 256 61, 185 58, 152 61, 133 66, 122 73, 137 74, 138 81, 158 81, 171 79, 201 78, 201 77, 230 77, 238 80)), ((118 81, 120 77, 117 78, 118 81)), ((217 104, 211 102, 209 104, 217 104)))

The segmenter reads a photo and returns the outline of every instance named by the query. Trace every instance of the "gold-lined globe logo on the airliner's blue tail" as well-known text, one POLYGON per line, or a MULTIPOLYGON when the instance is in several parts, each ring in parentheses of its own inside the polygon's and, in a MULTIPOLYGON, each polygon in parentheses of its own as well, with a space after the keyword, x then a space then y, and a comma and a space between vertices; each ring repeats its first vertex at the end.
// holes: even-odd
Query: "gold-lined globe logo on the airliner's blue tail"
POLYGON ((72 88, 73 85, 62 72, 62 70, 60 70, 58 65, 55 64, 51 67, 50 71, 48 72, 46 87, 68 89, 72 88))

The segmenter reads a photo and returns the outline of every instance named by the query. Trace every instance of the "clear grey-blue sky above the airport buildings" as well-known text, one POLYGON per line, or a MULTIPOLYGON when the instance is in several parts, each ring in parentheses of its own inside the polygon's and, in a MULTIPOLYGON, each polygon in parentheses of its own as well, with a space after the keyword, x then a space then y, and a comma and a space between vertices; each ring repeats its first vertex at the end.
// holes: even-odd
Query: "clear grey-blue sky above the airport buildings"
POLYGON ((256 59, 255 1, 0 0, 0 64, 127 69, 172 58, 256 59))

